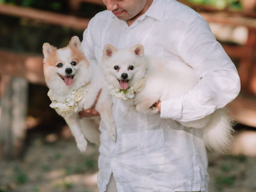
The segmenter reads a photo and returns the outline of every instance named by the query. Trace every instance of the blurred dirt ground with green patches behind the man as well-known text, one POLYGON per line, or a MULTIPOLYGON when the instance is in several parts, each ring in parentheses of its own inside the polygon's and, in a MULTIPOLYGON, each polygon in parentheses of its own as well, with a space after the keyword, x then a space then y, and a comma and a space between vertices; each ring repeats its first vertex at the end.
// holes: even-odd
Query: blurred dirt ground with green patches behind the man
MULTIPOLYGON (((33 133, 29 137, 21 159, 0 161, 0 192, 98 191, 95 145, 81 154, 67 127, 60 134, 33 133)), ((253 145, 256 149, 255 142, 253 145)), ((256 192, 255 156, 209 152, 208 158, 210 192, 256 192)))

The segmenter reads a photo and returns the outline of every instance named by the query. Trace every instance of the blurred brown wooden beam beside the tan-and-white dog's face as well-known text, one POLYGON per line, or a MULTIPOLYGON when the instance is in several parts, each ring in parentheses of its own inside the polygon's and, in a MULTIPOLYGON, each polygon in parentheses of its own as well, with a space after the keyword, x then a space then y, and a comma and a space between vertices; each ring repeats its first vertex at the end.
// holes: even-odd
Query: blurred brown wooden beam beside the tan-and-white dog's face
POLYGON ((31 83, 45 84, 43 58, 0 50, 0 75, 25 78, 31 83))

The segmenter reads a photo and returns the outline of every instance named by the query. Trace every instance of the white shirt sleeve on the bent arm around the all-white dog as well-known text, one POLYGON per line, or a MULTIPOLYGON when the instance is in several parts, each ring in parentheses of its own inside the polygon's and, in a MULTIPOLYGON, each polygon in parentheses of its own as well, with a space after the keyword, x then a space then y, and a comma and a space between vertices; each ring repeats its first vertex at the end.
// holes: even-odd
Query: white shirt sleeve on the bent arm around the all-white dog
POLYGON ((236 98, 240 92, 236 67, 203 18, 197 17, 187 24, 177 49, 180 58, 197 72, 200 80, 180 98, 162 101, 161 118, 198 120, 236 98))

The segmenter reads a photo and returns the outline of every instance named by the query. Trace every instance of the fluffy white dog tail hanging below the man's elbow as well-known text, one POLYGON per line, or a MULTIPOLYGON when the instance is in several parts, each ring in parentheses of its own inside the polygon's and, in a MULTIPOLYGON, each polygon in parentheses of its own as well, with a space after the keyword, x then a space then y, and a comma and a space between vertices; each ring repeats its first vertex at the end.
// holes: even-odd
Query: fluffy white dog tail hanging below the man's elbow
POLYGON ((202 129, 204 144, 210 150, 227 152, 234 133, 234 120, 228 116, 226 108, 217 109, 211 116, 206 127, 202 129))

